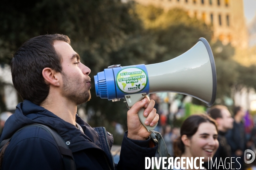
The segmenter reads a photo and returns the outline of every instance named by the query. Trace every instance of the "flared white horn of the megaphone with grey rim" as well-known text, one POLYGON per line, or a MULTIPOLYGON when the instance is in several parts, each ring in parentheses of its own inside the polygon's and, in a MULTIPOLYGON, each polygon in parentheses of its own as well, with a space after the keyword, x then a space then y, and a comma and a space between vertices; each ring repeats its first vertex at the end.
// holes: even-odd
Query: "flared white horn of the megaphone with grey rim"
POLYGON ((166 62, 145 65, 149 93, 175 92, 186 94, 212 106, 217 91, 217 76, 211 47, 206 39, 184 54, 166 62))

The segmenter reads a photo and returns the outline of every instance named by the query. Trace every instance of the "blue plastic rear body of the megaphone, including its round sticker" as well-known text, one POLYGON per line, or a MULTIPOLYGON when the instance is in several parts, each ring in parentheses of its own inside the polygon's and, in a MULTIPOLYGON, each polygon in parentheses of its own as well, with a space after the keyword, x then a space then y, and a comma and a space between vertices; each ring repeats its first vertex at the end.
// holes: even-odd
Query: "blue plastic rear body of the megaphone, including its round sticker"
POLYGON ((96 95, 103 99, 119 101, 128 94, 149 93, 145 65, 111 65, 94 76, 94 80, 96 95))

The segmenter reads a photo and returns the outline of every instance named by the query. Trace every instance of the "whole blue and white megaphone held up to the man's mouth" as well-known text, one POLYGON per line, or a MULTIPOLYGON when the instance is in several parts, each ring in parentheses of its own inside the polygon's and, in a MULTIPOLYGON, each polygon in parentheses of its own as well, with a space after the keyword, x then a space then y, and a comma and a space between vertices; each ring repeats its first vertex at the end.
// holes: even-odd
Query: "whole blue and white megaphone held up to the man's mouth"
MULTIPOLYGON (((124 98, 128 108, 145 95, 157 92, 186 94, 212 106, 217 91, 217 76, 211 47, 205 38, 184 54, 150 65, 111 65, 94 76, 96 95, 119 101, 124 98)), ((142 108, 138 116, 149 132, 153 127, 145 125, 142 108)))

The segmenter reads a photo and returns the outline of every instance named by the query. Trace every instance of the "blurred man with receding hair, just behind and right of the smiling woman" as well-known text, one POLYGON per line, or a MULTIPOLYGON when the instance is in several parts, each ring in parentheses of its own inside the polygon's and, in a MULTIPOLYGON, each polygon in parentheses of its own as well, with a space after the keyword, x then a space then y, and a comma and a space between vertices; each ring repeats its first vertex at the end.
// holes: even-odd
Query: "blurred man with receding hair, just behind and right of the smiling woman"
MULTIPOLYGON (((209 116, 212 119, 215 119, 218 126, 218 142, 219 147, 216 151, 215 155, 212 158, 212 161, 217 160, 217 164, 219 164, 220 160, 222 160, 224 166, 216 166, 211 169, 218 169, 218 170, 225 170, 230 169, 230 157, 231 157, 231 148, 230 145, 227 143, 227 139, 225 134, 228 130, 233 128, 234 119, 231 117, 230 112, 228 111, 226 106, 223 105, 215 105, 209 110, 209 116), (227 159, 226 159, 227 158, 227 159), (226 161, 225 161, 226 160, 226 161)), ((208 163, 205 163, 208 167, 208 163)))

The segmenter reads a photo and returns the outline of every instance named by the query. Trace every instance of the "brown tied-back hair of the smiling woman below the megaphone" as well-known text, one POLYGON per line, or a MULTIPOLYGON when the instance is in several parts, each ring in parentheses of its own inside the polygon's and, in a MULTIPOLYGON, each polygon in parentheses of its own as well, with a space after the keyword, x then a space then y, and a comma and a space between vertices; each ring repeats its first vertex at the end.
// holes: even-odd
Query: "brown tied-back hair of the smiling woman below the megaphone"
POLYGON ((180 127, 180 137, 178 137, 173 143, 175 157, 181 156, 185 152, 185 145, 181 140, 181 136, 186 135, 188 138, 191 138, 197 132, 199 125, 204 122, 212 123, 218 131, 215 120, 206 114, 189 116, 180 127))

